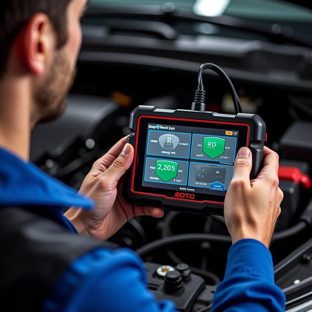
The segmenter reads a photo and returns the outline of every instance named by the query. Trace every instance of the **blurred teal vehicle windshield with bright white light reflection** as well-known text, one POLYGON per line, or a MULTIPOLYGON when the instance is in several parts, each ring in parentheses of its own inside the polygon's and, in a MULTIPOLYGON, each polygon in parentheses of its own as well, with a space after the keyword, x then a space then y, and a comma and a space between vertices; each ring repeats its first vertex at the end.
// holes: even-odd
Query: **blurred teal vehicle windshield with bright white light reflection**
MULTIPOLYGON (((163 5, 165 0, 91 0, 91 5, 163 5)), ((281 0, 175 0, 178 7, 193 9, 198 15, 227 15, 259 20, 312 22, 312 11, 281 0)))

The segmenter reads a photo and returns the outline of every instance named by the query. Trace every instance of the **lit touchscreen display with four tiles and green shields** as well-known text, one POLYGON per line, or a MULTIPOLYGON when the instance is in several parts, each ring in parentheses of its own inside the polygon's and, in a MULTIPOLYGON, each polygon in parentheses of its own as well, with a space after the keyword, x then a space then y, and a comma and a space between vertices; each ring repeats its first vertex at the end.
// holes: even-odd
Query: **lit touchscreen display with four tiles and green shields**
POLYGON ((247 127, 242 125, 170 119, 141 122, 141 177, 136 184, 153 194, 188 192, 224 199, 237 151, 246 146, 246 138, 247 127))

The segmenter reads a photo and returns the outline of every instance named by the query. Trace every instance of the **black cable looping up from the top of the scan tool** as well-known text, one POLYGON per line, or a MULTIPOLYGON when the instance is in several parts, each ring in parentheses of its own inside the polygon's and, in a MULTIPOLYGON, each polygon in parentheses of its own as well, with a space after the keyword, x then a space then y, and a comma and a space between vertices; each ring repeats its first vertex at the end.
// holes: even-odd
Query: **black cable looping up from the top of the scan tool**
POLYGON ((225 73, 225 71, 222 70, 221 67, 219 67, 215 64, 212 64, 212 63, 202 64, 202 66, 200 66, 200 68, 199 68, 199 71, 198 71, 198 89, 196 90, 194 102, 192 103, 191 109, 192 110, 199 110, 199 111, 205 111, 206 110, 205 91, 204 91, 204 86, 202 84, 202 72, 206 69, 210 69, 210 70, 214 71, 215 73, 217 73, 222 78, 222 80, 225 82, 225 84, 227 85, 228 89, 231 92, 236 114, 243 113, 244 110, 241 106, 241 101, 240 101, 240 99, 236 93, 236 90, 234 88, 234 85, 233 85, 231 79, 229 78, 229 76, 227 76, 227 74, 225 73))

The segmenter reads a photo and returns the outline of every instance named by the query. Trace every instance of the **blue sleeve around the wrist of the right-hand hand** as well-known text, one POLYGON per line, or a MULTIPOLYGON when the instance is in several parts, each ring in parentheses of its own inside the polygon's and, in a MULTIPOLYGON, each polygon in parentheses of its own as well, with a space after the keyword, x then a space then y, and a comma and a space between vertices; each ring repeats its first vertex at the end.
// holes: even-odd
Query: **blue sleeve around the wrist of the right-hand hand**
POLYGON ((270 251, 260 241, 243 239, 229 250, 224 280, 212 312, 284 312, 285 295, 274 283, 270 251))

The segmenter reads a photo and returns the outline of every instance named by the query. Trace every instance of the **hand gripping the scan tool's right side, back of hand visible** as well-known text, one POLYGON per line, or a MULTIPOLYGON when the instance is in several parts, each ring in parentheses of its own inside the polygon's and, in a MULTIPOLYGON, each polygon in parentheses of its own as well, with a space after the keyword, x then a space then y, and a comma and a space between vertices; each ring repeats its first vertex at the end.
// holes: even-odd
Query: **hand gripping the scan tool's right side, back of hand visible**
POLYGON ((270 245, 284 196, 278 187, 278 161, 278 155, 265 147, 264 167, 250 181, 251 152, 246 147, 239 150, 224 203, 225 222, 233 243, 253 238, 270 245))

